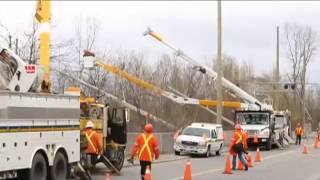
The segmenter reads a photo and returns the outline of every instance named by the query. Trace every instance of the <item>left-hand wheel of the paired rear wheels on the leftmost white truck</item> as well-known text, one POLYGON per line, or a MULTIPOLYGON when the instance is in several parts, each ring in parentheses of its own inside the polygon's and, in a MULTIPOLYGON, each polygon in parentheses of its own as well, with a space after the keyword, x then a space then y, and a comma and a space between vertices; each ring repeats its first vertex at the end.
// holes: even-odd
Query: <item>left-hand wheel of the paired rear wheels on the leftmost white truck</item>
POLYGON ((47 174, 48 167, 45 158, 41 153, 36 153, 32 160, 31 169, 19 171, 18 179, 46 180, 47 174))

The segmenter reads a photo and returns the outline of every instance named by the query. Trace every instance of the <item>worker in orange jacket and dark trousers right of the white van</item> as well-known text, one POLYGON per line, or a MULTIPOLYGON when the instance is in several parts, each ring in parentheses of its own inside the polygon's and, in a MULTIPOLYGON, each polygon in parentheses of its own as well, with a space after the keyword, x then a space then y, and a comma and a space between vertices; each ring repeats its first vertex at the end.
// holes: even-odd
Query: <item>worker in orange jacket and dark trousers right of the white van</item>
POLYGON ((237 166, 237 155, 239 160, 245 167, 245 170, 248 170, 248 163, 246 161, 244 153, 246 153, 248 146, 247 146, 247 134, 241 130, 240 124, 236 124, 235 131, 232 135, 229 152, 233 156, 232 158, 232 169, 236 170, 237 166))

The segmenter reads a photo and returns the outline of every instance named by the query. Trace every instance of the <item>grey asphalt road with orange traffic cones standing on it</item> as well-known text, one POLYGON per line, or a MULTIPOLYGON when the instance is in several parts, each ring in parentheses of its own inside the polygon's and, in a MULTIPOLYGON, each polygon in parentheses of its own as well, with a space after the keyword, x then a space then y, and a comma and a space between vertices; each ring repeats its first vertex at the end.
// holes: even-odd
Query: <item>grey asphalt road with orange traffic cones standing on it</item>
MULTIPOLYGON (((302 153, 302 146, 292 145, 289 149, 261 151, 262 162, 254 163, 249 171, 233 171, 223 174, 226 155, 210 158, 182 157, 170 162, 157 163, 152 166, 153 180, 183 179, 186 160, 190 159, 194 180, 320 180, 320 149, 308 146, 309 153, 302 153)), ((255 152, 251 152, 255 155, 255 152)), ((171 155, 174 159, 175 156, 171 155)), ((122 169, 121 176, 112 176, 112 180, 139 180, 139 166, 122 169)), ((94 180, 104 180, 105 171, 96 174, 94 180)))

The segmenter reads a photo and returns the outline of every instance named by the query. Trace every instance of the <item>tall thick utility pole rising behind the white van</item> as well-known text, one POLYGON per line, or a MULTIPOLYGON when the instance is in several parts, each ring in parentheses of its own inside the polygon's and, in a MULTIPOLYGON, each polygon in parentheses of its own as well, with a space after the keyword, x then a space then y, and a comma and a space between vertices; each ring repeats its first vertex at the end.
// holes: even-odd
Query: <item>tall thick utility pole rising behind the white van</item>
POLYGON ((218 0, 218 21, 217 21, 217 123, 221 124, 222 120, 222 49, 221 49, 221 0, 218 0))

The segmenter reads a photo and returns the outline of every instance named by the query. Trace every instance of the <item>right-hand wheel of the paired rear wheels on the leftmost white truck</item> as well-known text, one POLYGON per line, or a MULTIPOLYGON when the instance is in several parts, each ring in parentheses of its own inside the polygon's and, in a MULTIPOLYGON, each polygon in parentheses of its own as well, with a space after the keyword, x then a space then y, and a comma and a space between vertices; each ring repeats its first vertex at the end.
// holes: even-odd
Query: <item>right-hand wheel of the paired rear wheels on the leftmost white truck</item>
POLYGON ((66 180, 68 172, 66 157, 61 152, 57 152, 53 160, 53 165, 50 168, 50 180, 66 180))

